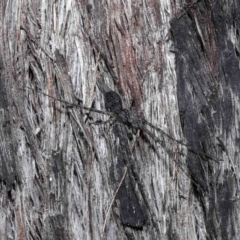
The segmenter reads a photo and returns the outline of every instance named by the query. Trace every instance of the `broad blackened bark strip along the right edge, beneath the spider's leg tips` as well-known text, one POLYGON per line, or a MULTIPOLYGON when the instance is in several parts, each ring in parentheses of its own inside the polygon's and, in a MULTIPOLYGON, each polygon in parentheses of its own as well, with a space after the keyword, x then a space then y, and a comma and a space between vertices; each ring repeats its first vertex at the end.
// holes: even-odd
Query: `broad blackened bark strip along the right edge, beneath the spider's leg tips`
POLYGON ((209 239, 239 236, 233 220, 238 218, 234 202, 239 194, 238 7, 201 1, 171 22, 184 135, 193 149, 224 159, 219 166, 193 155, 187 158, 192 178, 205 192, 201 202, 209 239))

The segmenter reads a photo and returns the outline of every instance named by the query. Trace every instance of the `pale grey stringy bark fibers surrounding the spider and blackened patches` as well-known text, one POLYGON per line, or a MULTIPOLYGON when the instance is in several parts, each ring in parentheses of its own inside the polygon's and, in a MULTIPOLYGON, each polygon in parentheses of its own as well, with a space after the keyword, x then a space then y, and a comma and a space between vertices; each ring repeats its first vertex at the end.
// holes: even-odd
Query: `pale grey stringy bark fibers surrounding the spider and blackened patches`
MULTIPOLYGON (((109 116, 66 108, 37 92, 74 103, 76 96, 86 107, 105 110, 104 96, 97 86, 97 81, 103 81, 122 96, 125 108, 138 111, 168 134, 184 140, 177 97, 181 69, 176 65, 170 21, 184 12, 185 4, 170 0, 1 1, 1 239, 212 239, 206 218, 211 206, 205 208, 210 202, 208 194, 196 194, 194 184, 172 160, 183 163, 189 174, 184 146, 165 137, 163 148, 142 132, 129 140, 133 146, 130 159, 139 178, 136 192, 144 193, 148 220, 140 230, 123 226, 118 201, 106 218, 118 188, 111 180, 111 166, 117 162, 119 139, 111 124, 91 124, 109 116)), ((230 6, 225 3, 226 9, 230 6)), ((239 22, 236 24, 239 29, 239 22)), ((233 46, 239 49, 233 26, 229 23, 226 28, 233 46)), ((197 31, 206 37, 200 27, 197 31)), ((206 67, 204 63, 200 71, 206 67)), ((239 95, 230 96, 232 105, 227 107, 235 112, 234 124, 223 142, 232 160, 220 153, 217 157, 223 157, 224 162, 213 163, 211 171, 220 169, 217 184, 221 186, 224 171, 229 171, 232 194, 237 191, 240 168, 239 141, 235 144, 240 105, 239 95)), ((217 136, 225 133, 224 128, 219 129, 217 136)), ((217 205, 221 209, 214 215, 216 224, 210 226, 215 239, 239 237, 238 195, 230 201, 234 211, 225 219, 225 235, 219 220, 224 220, 219 217, 224 214, 224 203, 217 205)))

